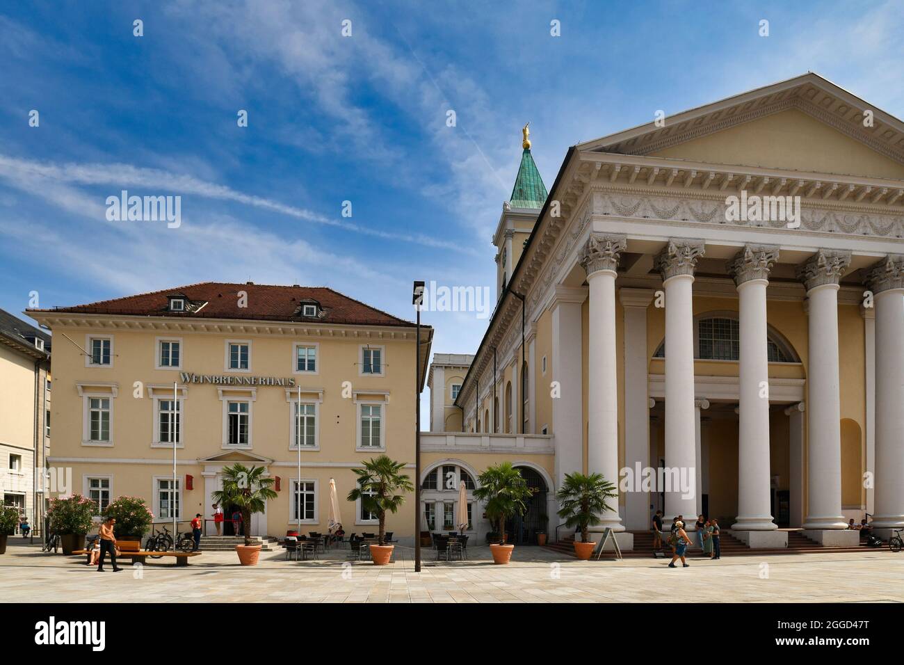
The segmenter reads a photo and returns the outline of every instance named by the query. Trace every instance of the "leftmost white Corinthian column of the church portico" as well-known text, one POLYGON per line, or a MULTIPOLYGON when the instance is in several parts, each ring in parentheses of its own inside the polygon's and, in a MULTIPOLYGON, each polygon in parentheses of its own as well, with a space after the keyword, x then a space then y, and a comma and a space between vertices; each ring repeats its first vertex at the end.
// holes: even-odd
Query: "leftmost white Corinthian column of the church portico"
MULTIPOLYGON (((618 384, 616 354, 616 268, 624 235, 591 234, 581 256, 589 284, 588 442, 590 473, 618 485, 618 384)), ((617 508, 617 503, 615 503, 617 508)), ((594 530, 624 531, 617 511, 600 516, 594 530)))

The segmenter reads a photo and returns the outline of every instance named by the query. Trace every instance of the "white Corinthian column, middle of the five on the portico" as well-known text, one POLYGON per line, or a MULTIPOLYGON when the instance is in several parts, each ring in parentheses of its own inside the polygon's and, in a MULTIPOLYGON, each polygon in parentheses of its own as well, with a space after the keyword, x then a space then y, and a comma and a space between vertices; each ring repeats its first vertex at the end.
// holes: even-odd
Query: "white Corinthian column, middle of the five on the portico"
POLYGON ((772 522, 769 489, 769 366, 766 288, 778 249, 747 245, 729 262, 739 299, 738 519, 732 529, 768 531, 772 522))

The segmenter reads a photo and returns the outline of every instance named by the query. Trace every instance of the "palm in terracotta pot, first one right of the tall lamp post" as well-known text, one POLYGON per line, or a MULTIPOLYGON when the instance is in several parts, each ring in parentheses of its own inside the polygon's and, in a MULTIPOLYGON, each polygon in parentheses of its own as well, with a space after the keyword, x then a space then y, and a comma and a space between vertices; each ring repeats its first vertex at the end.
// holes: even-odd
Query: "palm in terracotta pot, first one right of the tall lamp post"
POLYGON ((495 539, 499 543, 490 542, 490 551, 496 564, 507 564, 512 559, 513 545, 506 545, 505 520, 513 515, 523 515, 527 506, 525 499, 530 499, 531 489, 523 479, 521 471, 512 466, 512 462, 504 461, 487 467, 477 477, 480 485, 474 490, 474 498, 485 505, 486 517, 500 535, 495 539))

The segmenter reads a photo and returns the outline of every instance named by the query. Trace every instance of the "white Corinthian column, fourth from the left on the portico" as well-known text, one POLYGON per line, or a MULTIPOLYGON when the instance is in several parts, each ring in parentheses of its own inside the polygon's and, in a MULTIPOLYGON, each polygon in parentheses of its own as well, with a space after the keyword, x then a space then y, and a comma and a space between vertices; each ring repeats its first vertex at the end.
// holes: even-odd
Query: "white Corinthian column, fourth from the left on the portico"
POLYGON ((843 529, 838 281, 851 252, 820 250, 797 269, 809 306, 807 510, 805 529, 843 529))

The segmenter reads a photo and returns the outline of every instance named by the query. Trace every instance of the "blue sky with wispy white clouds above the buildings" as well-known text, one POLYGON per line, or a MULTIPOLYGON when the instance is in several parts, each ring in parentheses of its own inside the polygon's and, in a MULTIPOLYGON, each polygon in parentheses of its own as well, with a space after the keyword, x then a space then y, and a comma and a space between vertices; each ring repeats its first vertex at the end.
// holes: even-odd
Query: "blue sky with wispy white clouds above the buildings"
MULTIPOLYGON (((574 143, 805 71, 901 117, 901 8, 7 3, 0 308, 21 312, 31 291, 51 307, 253 280, 327 285, 411 318, 411 280, 494 289, 490 237, 525 122, 550 186, 574 143), (108 222, 121 189, 181 195, 182 225, 108 222)), ((486 325, 424 320, 439 352, 473 352, 486 325)))

